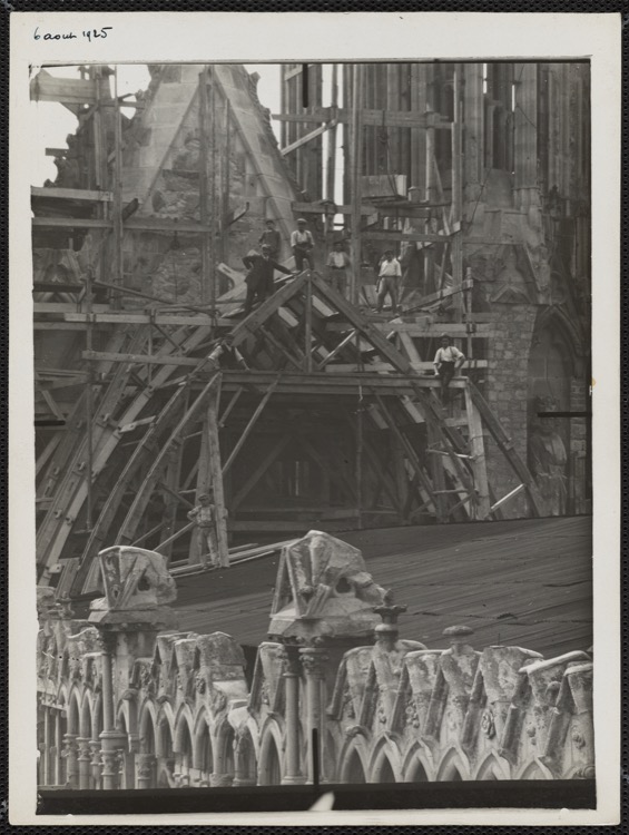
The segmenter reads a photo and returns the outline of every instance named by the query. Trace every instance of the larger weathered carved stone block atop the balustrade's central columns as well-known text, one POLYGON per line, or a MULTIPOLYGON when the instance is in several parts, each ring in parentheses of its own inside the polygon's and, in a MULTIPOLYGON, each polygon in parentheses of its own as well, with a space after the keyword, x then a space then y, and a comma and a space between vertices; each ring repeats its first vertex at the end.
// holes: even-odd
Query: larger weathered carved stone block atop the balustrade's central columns
POLYGON ((322 531, 283 549, 275 588, 268 631, 283 639, 370 635, 385 593, 356 548, 322 531))

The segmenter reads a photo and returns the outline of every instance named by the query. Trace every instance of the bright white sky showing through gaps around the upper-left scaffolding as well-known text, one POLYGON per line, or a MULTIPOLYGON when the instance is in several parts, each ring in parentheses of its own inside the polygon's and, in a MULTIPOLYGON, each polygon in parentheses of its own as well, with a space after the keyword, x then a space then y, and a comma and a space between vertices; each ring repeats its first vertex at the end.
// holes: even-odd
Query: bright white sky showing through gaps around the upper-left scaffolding
MULTIPOLYGON (((279 111, 279 66, 276 63, 247 63, 245 65, 249 72, 257 72, 259 81, 257 86, 258 97, 264 107, 268 107, 272 112, 279 111)), ((52 76, 61 78, 76 78, 78 76, 77 67, 47 67, 47 71, 52 76)), ((331 67, 325 66, 323 71, 323 106, 330 104, 330 73, 331 67)), ((119 63, 118 65, 118 95, 137 92, 146 89, 150 81, 150 75, 145 63, 119 63)), ((63 105, 52 101, 31 101, 32 111, 32 136, 36 139, 36 158, 32 166, 32 185, 42 186, 46 179, 55 180, 57 168, 52 157, 46 156, 46 148, 66 148, 66 137, 73 134, 77 129, 76 117, 63 105)), ((122 109, 122 112, 125 110, 122 109)), ((127 110, 127 116, 132 116, 132 110, 127 110)), ((275 132, 279 138, 279 124, 273 122, 275 132)), ((324 155, 326 159, 326 145, 328 135, 324 135, 324 155)), ((342 131, 337 131, 337 149, 342 144, 342 131)), ((342 165, 343 155, 336 154, 337 170, 336 181, 337 190, 342 184, 342 165)), ((325 175, 324 175, 325 176, 325 175)), ((336 203, 342 203, 340 194, 336 196, 336 203)))

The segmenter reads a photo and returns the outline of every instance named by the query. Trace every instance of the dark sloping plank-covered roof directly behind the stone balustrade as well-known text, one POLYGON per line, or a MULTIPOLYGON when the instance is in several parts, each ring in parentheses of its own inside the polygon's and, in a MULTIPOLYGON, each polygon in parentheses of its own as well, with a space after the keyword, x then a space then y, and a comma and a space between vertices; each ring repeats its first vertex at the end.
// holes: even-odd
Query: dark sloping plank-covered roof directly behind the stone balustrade
MULTIPOLYGON (((466 623, 476 649, 525 647, 547 658, 592 644, 591 518, 512 520, 351 531, 376 582, 409 609, 403 638, 448 646, 466 623)), ((224 631, 244 645, 266 638, 277 558, 180 578, 181 629, 224 631)))

